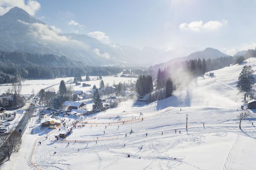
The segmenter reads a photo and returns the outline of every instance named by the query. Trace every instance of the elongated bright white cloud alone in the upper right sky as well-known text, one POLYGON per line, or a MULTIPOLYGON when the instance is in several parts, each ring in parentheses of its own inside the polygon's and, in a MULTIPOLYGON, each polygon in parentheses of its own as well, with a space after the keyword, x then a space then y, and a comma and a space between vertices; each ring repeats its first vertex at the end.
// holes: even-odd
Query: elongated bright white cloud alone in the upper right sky
POLYGON ((227 24, 227 20, 222 21, 192 21, 189 24, 182 23, 179 25, 181 30, 200 31, 200 30, 216 30, 227 24))

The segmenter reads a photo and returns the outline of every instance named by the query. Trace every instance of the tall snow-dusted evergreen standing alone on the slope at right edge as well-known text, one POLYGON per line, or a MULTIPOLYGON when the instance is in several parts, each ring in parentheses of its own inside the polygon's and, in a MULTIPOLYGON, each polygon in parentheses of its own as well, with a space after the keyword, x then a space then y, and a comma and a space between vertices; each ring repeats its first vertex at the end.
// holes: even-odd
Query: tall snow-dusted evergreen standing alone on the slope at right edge
POLYGON ((251 92, 255 84, 251 65, 244 65, 238 77, 237 89, 240 92, 251 92))

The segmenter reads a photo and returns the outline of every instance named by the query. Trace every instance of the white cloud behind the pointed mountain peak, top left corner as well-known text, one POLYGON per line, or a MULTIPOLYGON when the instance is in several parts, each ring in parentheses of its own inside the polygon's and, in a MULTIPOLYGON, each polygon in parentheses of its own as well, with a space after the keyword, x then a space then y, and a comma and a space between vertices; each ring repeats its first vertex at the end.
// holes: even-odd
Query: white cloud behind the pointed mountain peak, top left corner
POLYGON ((0 15, 8 12, 13 7, 19 7, 25 10, 29 15, 34 16, 35 12, 40 9, 40 3, 36 0, 0 0, 0 15))

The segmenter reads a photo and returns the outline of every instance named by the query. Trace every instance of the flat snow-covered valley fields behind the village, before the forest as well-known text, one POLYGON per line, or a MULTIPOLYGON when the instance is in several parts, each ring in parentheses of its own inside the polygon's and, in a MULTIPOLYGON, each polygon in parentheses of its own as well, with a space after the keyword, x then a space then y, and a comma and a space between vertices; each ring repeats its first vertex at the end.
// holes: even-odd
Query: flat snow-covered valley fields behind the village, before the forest
MULTIPOLYGON (((82 77, 85 79, 85 76, 82 77)), ((96 79, 96 76, 90 76, 91 79, 96 79)), ((119 82, 133 82, 136 80, 136 78, 125 78, 125 77, 114 77, 114 76, 103 76, 102 79, 104 80, 104 84, 107 85, 109 83, 111 86, 115 82, 115 84, 118 84, 119 82)), ((22 89, 21 94, 32 94, 32 89, 34 89, 35 93, 39 92, 40 89, 48 88, 54 89, 55 91, 58 91, 59 89, 59 83, 61 80, 67 81, 73 81, 74 77, 66 77, 66 78, 55 78, 55 79, 40 79, 40 80, 26 80, 21 82, 22 83, 22 89)), ((74 90, 82 90, 87 91, 89 89, 92 89, 92 86, 95 84, 97 87, 99 87, 100 80, 93 80, 93 81, 84 81, 81 82, 80 86, 75 86, 75 84, 72 84, 74 87, 74 90), (82 87, 82 84, 91 84, 90 87, 82 87)), ((5 93, 8 89, 11 89, 11 84, 2 84, 0 86, 0 94, 5 93)))

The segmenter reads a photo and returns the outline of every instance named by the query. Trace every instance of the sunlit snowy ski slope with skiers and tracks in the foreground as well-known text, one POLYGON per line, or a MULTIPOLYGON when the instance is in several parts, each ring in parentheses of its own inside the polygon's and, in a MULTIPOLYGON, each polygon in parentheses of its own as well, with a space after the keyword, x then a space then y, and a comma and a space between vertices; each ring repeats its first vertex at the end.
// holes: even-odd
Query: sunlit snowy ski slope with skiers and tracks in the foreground
MULTIPOLYGON (((256 58, 247 62, 256 71, 256 58)), ((1 169, 33 168, 30 158, 43 170, 256 169, 256 129, 251 125, 256 113, 251 110, 252 118, 242 122, 243 131, 237 120, 244 112, 240 110, 243 95, 236 88, 242 67, 213 71, 216 77, 199 77, 189 88, 158 103, 133 105, 128 101, 92 115, 86 118, 85 127, 74 129, 64 142, 54 140, 57 131, 49 135, 50 140, 36 140, 38 134, 27 129, 20 152, 1 169), (35 141, 42 144, 33 149, 35 141)))

